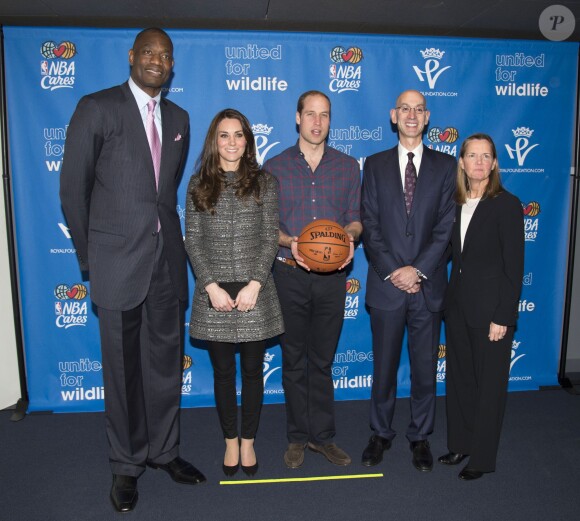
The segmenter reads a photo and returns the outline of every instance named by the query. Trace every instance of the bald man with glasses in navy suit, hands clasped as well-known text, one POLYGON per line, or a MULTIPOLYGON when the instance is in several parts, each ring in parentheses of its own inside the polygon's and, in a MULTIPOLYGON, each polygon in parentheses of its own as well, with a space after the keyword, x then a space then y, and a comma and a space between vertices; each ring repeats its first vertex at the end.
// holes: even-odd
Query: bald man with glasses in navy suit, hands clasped
POLYGON ((443 297, 445 250, 453 226, 456 162, 423 146, 429 111, 423 95, 405 91, 391 110, 399 144, 370 156, 361 197, 363 241, 369 257, 366 303, 373 332, 373 431, 362 464, 380 463, 395 437, 392 420, 397 370, 407 327, 411 362, 413 465, 433 467, 427 440, 435 419, 435 375, 443 297))

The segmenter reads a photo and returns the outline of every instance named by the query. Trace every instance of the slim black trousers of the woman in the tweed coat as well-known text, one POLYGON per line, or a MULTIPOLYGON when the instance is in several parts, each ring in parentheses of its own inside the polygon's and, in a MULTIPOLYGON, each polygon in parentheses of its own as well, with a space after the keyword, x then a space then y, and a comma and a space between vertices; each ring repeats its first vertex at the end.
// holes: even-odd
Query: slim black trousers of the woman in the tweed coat
MULTIPOLYGON (((224 438, 238 437, 238 403, 236 398, 236 344, 208 342, 213 366, 216 408, 224 438)), ((256 437, 264 399, 264 351, 266 341, 243 342, 240 345, 242 370, 242 438, 256 437)))

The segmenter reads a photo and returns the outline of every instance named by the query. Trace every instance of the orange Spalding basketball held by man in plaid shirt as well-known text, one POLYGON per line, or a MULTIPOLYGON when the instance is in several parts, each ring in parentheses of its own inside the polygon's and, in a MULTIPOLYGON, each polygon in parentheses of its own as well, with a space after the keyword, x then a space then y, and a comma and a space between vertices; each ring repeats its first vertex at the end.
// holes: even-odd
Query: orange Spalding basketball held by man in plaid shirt
POLYGON ((344 228, 334 221, 312 221, 298 236, 298 253, 312 271, 335 271, 344 264, 350 253, 350 238, 344 228))

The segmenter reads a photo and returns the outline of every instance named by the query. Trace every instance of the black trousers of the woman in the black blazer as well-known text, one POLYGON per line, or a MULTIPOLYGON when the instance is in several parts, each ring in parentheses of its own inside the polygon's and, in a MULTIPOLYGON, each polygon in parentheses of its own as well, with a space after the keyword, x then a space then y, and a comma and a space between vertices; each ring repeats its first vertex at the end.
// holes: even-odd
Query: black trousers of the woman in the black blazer
POLYGON ((495 470, 507 400, 514 328, 491 342, 489 326, 471 328, 463 308, 452 302, 445 313, 447 335, 447 446, 469 454, 469 467, 495 470))

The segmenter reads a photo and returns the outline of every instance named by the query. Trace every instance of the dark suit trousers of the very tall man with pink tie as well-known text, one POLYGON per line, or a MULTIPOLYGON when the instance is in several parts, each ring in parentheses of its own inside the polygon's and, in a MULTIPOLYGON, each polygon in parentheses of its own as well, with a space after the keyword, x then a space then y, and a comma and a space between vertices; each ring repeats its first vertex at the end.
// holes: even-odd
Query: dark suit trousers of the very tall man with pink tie
POLYGON ((179 455, 185 303, 173 289, 162 241, 147 297, 126 310, 98 308, 105 422, 114 474, 179 455))

